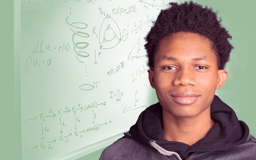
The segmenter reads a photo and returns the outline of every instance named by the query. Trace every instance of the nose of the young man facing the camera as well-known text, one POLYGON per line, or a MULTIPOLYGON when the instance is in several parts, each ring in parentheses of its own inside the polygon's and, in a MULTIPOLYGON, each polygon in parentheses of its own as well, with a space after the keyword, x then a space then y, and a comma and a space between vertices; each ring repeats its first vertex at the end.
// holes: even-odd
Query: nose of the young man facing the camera
POLYGON ((176 72, 176 77, 173 80, 173 85, 196 85, 196 79, 195 79, 195 73, 192 71, 192 69, 183 68, 179 69, 178 72, 176 72))

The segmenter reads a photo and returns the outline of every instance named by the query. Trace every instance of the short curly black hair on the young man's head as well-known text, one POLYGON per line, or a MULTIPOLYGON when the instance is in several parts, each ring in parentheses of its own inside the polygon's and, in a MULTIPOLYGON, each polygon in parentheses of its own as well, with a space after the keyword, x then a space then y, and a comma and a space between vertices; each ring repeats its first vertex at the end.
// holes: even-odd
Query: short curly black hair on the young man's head
POLYGON ((224 69, 230 59, 233 49, 228 39, 232 39, 229 32, 221 26, 221 18, 207 6, 192 1, 182 4, 169 3, 168 9, 161 10, 151 30, 145 37, 148 66, 154 69, 154 55, 158 50, 159 43, 167 36, 177 32, 197 33, 210 40, 212 49, 215 51, 218 69, 224 69))

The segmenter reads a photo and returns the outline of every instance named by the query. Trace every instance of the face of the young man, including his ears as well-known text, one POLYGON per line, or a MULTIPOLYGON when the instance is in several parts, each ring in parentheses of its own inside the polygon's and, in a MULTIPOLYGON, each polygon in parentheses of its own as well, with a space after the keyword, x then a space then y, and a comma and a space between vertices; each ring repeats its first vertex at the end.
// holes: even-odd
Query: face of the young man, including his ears
POLYGON ((209 108, 216 88, 224 84, 219 75, 225 72, 228 76, 225 70, 218 70, 209 40, 184 32, 161 40, 154 70, 148 72, 163 112, 184 118, 209 108))

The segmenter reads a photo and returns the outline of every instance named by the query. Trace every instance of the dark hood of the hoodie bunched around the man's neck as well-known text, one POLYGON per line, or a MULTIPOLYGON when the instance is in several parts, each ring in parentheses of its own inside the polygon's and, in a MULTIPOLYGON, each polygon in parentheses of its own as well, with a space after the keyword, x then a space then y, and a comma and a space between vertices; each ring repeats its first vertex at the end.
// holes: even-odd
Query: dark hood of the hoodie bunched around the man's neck
POLYGON ((248 126, 243 121, 239 121, 233 109, 216 95, 211 103, 211 119, 215 121, 215 125, 207 136, 191 146, 182 142, 163 140, 162 106, 158 102, 141 112, 136 124, 124 135, 127 137, 131 135, 149 147, 152 147, 150 142, 153 140, 163 149, 178 153, 182 159, 194 152, 227 151, 247 139, 248 126))

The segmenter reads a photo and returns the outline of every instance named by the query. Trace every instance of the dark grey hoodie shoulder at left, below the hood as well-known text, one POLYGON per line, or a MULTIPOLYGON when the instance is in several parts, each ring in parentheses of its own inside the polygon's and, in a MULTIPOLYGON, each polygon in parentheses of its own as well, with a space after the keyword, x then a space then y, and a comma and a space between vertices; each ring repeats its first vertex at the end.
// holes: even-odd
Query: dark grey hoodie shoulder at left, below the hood
POLYGON ((122 137, 104 149, 100 160, 169 160, 155 149, 137 142, 132 138, 122 137))

